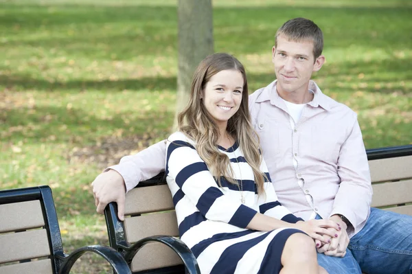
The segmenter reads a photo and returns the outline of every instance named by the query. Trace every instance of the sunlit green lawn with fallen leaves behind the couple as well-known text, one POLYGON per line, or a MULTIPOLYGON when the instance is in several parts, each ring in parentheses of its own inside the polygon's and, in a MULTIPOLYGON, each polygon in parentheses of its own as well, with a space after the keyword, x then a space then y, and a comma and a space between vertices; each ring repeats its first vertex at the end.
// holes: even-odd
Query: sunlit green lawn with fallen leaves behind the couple
MULTIPOLYGON (((107 244, 89 185, 169 133, 176 1, 0 3, 0 188, 50 185, 68 251, 107 244)), ((277 27, 313 19, 325 36, 314 76, 323 92, 358 113, 367 148, 411 144, 410 1, 214 3, 215 50, 244 63, 251 90, 274 79, 277 27)), ((100 261, 84 259, 76 273, 104 272, 90 265, 100 261)))

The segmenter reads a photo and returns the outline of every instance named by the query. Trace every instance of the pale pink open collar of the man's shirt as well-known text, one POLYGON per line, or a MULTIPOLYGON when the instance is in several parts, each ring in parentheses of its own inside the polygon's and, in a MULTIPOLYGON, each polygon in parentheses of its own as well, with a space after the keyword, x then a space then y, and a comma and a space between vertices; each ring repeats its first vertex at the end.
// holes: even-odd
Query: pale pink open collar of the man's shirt
MULTIPOLYGON (((281 106, 284 105, 284 102, 282 102, 282 98, 280 98, 279 94, 276 91, 276 82, 277 80, 271 82, 271 84, 268 84, 268 86, 264 88, 262 93, 260 93, 260 95, 256 99, 257 103, 270 100, 271 104, 282 109, 281 106)), ((319 89, 319 87, 313 80, 310 80, 309 82, 309 90, 312 91, 314 96, 313 100, 308 102, 308 104, 310 106, 313 106, 314 108, 321 106, 321 108, 325 109, 325 111, 330 111, 328 96, 322 93, 321 89, 319 89)))

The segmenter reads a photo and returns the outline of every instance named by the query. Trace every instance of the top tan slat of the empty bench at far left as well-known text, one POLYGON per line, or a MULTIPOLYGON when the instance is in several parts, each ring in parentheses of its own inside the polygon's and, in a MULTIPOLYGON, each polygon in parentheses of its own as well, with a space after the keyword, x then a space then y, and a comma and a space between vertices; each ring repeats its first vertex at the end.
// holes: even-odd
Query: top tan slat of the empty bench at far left
POLYGON ((0 233, 43 227, 40 201, 0 205, 0 233))

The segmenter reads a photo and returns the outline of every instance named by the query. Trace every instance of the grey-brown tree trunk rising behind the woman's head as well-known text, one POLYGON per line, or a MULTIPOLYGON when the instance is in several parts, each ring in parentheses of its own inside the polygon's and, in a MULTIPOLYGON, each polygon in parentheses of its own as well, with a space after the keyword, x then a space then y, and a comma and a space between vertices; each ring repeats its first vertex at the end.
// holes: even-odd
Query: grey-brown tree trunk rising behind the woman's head
POLYGON ((179 70, 173 131, 177 128, 178 113, 189 100, 194 70, 214 52, 211 0, 179 0, 177 10, 179 70))

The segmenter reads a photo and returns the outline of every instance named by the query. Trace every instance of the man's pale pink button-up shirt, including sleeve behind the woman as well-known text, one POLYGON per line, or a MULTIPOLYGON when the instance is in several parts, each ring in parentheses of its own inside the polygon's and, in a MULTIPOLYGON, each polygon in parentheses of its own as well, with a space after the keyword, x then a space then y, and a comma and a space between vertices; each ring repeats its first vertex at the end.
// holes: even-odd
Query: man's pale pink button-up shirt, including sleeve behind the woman
MULTIPOLYGON (((324 95, 314 82, 312 102, 292 128, 276 81, 249 96, 252 123, 280 203, 308 220, 344 215, 360 231, 369 216, 371 179, 356 113, 324 95), (293 165, 297 160, 297 168, 293 165), (303 180, 299 186, 298 179, 303 180), (312 203, 308 203, 308 195, 312 203)), ((164 169, 165 142, 123 157, 112 169, 122 174, 126 190, 164 169)))

